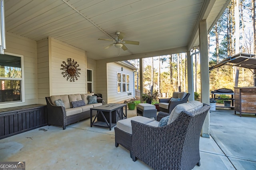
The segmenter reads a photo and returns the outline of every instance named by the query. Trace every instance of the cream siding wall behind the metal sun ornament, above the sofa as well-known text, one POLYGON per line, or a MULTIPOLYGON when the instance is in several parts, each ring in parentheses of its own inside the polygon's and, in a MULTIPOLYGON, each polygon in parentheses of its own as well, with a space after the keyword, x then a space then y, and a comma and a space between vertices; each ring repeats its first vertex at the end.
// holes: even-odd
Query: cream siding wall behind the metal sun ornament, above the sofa
MULTIPOLYGON (((86 66, 85 66, 85 51, 58 41, 52 37, 49 39, 49 61, 50 61, 50 96, 52 95, 62 95, 62 94, 81 94, 87 93, 86 91, 86 66), (68 58, 74 59, 81 70, 78 80, 75 82, 67 81, 67 77, 63 77, 60 70, 63 68, 61 64, 65 61, 68 64, 68 58)), ((77 65, 76 64, 76 65, 77 65)))

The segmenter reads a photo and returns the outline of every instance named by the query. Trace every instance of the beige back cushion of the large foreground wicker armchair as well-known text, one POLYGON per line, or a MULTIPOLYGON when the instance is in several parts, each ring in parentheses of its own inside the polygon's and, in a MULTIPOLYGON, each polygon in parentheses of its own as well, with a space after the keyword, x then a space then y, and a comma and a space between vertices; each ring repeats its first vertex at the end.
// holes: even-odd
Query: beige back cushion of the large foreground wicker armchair
POLYGON ((178 104, 172 110, 167 125, 169 125, 175 119, 177 119, 177 117, 180 115, 180 113, 182 111, 186 110, 188 112, 192 112, 192 111, 195 111, 197 109, 200 109, 201 107, 203 107, 203 104, 201 102, 196 101, 196 100, 193 100, 193 101, 188 102, 188 103, 178 104))

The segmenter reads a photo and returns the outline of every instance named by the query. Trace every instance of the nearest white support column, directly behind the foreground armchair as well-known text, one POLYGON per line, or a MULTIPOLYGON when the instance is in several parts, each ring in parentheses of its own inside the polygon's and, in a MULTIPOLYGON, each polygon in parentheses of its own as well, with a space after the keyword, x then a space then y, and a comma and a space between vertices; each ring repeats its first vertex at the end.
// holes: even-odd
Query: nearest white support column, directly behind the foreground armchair
MULTIPOLYGON (((202 103, 210 104, 210 84, 209 84, 209 58, 207 22, 199 22, 199 46, 200 46, 200 73, 201 73, 201 100, 202 103)), ((202 128, 202 137, 210 138, 210 117, 206 115, 202 128)))

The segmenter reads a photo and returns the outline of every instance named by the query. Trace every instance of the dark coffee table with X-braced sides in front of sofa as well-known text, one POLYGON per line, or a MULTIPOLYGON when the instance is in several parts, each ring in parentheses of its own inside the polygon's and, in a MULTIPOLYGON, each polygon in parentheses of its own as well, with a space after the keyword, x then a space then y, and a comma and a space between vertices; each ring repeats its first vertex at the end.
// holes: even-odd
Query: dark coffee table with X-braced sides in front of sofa
POLYGON ((92 125, 111 128, 116 125, 116 122, 127 118, 126 104, 106 104, 98 107, 90 108, 90 119, 92 125), (125 106, 125 114, 123 107, 125 106), (97 114, 92 121, 92 111, 96 110, 97 114), (113 118, 112 118, 113 117, 113 118), (97 121, 95 121, 97 118, 97 121))

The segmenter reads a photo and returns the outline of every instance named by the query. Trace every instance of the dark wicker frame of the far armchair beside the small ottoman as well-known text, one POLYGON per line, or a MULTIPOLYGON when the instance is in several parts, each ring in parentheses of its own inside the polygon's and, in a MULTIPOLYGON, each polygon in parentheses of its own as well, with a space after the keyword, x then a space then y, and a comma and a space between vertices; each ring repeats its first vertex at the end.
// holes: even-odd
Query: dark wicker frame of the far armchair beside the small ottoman
POLYGON ((160 107, 160 105, 159 105, 159 111, 163 111, 163 112, 166 112, 166 113, 170 114, 175 106, 177 106, 178 104, 188 102, 189 95, 190 95, 190 93, 187 93, 186 96, 180 101, 170 101, 171 98, 160 98, 159 103, 169 103, 169 105, 168 105, 168 109, 160 107))

